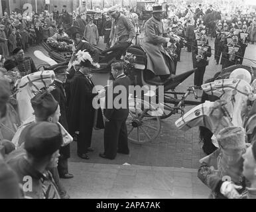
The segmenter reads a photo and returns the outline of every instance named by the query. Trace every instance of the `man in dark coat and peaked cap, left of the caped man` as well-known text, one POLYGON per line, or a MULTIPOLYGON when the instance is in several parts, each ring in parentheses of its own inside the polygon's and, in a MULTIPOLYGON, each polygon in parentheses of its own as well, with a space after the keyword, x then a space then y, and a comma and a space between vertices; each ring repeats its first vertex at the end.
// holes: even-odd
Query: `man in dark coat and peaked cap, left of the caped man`
MULTIPOLYGON (((58 66, 54 69, 55 80, 53 85, 55 89, 51 91, 54 99, 58 101, 58 105, 60 105, 61 116, 58 122, 66 131, 68 131, 68 119, 64 83, 66 82, 66 75, 68 74, 66 71, 67 68, 68 66, 58 66)), ((58 173, 60 178, 68 179, 74 177, 72 174, 68 173, 68 158, 70 158, 70 144, 60 148, 60 158, 58 160, 58 173)))

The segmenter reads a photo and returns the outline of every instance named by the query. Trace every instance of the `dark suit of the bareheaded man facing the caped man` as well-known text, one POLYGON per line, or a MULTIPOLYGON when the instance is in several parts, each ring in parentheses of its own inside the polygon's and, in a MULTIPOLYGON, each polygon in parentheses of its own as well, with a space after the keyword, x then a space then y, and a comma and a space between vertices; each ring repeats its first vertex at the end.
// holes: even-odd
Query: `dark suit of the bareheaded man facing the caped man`
MULTIPOLYGON (((131 80, 129 77, 125 76, 125 74, 121 74, 120 76, 113 81, 113 89, 117 85, 125 86, 125 90, 129 90, 129 85, 131 85, 131 80)), ((112 109, 107 108, 108 100, 107 94, 110 92, 109 90, 106 92, 106 109, 104 109, 104 115, 109 121, 105 122, 105 131, 104 131, 104 149, 105 149, 105 157, 109 159, 114 159, 117 155, 117 152, 123 154, 129 154, 128 142, 127 142, 127 127, 126 127, 126 119, 129 115, 129 107, 128 107, 128 96, 129 92, 126 93, 127 107, 121 109, 115 109, 115 105, 113 105, 112 109)), ((113 92, 113 91, 112 91, 113 92)), ((111 95, 111 94, 110 94, 111 95)), ((119 94, 113 93, 113 99, 115 96, 119 94)), ((111 100, 110 100, 111 101, 111 100)), ((112 101, 113 103, 113 101, 112 101)))

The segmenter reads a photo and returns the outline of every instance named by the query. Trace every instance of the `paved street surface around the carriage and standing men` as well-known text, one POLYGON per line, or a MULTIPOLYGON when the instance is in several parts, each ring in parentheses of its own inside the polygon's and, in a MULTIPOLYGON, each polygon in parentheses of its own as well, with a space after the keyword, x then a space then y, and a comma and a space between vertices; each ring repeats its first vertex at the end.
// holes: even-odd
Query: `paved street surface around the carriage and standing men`
MULTIPOLYGON (((214 38, 209 38, 214 46, 214 38)), ((100 43, 99 47, 105 48, 100 43)), ((34 50, 46 51, 41 46, 32 47, 27 56, 36 64, 34 50)), ((249 44, 245 58, 256 59, 255 45, 249 44)), ((249 60, 243 64, 253 66, 249 60)), ((192 70, 191 53, 182 49, 181 62, 178 62, 177 74, 192 70)), ((214 50, 210 64, 206 68, 204 80, 211 78, 221 70, 216 65, 214 50)), ((194 83, 194 75, 176 87, 184 91, 194 83)), ((186 107, 186 111, 192 107, 186 107)), ((117 154, 115 160, 99 158, 103 152, 103 130, 94 131, 90 160, 82 160, 76 154, 76 142, 71 145, 69 160, 71 180, 62 180, 72 198, 207 198, 210 190, 197 178, 200 158, 205 154, 199 143, 198 128, 183 132, 176 129, 174 122, 180 115, 172 115, 162 120, 157 139, 147 144, 129 143, 130 154, 117 154), (125 164, 126 163, 126 164, 125 164), (123 165, 125 164, 125 165, 123 165)))

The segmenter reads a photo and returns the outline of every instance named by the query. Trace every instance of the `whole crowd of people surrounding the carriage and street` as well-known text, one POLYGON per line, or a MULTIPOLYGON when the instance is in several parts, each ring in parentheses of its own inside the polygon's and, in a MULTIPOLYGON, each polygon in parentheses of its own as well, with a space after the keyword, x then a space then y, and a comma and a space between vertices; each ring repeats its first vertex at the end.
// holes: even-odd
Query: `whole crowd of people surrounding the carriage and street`
MULTIPOLYGON (((129 113, 129 93, 125 96, 125 107, 117 109, 113 107, 113 99, 119 93, 114 94, 113 90, 119 85, 128 90, 131 85, 123 62, 116 59, 120 59, 131 46, 140 30, 143 36, 139 48, 145 51, 147 70, 153 72, 149 78, 159 77, 162 82, 172 78, 176 74, 182 46, 192 52, 196 69, 194 85, 198 88, 204 82, 208 58, 212 55, 216 64, 222 64, 222 68, 242 64, 248 42, 254 42, 251 34, 254 33, 255 11, 245 9, 248 14, 244 14, 244 10, 237 8, 232 19, 227 19, 218 16, 219 11, 225 13, 222 7, 183 5, 186 10, 179 17, 174 13, 180 7, 166 5, 163 9, 161 5, 155 5, 152 17, 140 25, 139 30, 137 17, 125 15, 124 11, 113 7, 107 12, 101 28, 107 47, 105 52, 110 52, 107 56, 101 52, 101 56, 105 56, 103 59, 96 48, 99 32, 93 19, 85 20, 82 15, 73 19, 66 12, 66 7, 61 14, 54 7, 52 13, 32 13, 31 18, 27 16, 26 19, 20 14, 5 14, 0 25, 0 36, 3 38, 0 39, 0 152, 5 156, 2 158, 0 154, 0 168, 3 170, 0 172, 0 197, 69 198, 60 178, 74 178, 68 170, 70 142, 76 140, 80 158, 90 159, 88 153, 94 152, 91 146, 94 128, 104 129, 101 158, 113 160, 117 153, 129 154, 125 124, 129 113), (214 13, 212 8, 218 11, 214 13), (212 13, 216 16, 210 21, 204 18, 212 13), (74 42, 72 50, 76 55, 71 61, 72 67, 58 64, 53 71, 38 72, 32 58, 25 57, 27 44, 40 44, 63 28, 72 26, 76 28, 71 33, 74 42), (30 36, 31 30, 35 36, 30 36), (20 36, 21 41, 17 42, 19 33, 27 35, 20 36), (208 36, 216 37, 214 53, 208 44, 208 36), (9 41, 11 38, 16 40, 13 46, 13 42, 9 41), (167 52, 167 48, 171 50, 167 52), (98 68, 97 62, 108 63, 114 81, 107 88, 95 92, 90 72, 92 68, 98 68), (23 95, 25 89, 30 91, 29 95, 23 95), (109 99, 111 92, 113 97, 109 99), (106 98, 103 111, 94 107, 96 97, 97 101, 100 97, 106 98), (27 105, 26 111, 31 109, 26 119, 24 105, 27 105), (20 189, 19 184, 28 186, 20 189)), ((251 83, 251 78, 247 83, 251 83)), ((245 105, 247 114, 254 114, 256 103, 253 101, 248 100, 245 105)), ((255 128, 252 131, 250 144, 245 143, 248 139, 245 139, 247 135, 242 127, 226 127, 217 136, 220 148, 200 161, 198 178, 212 189, 213 197, 255 198, 255 128), (218 161, 220 156, 222 160, 218 161), (218 171, 212 170, 212 166, 218 171), (231 180, 225 181, 220 176, 229 176, 231 180)))

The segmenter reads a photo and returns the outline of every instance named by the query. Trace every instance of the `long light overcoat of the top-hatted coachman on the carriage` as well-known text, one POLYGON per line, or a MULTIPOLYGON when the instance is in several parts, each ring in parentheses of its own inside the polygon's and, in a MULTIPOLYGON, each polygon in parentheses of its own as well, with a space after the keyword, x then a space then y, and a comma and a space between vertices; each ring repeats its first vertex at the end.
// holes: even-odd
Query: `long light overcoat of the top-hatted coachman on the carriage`
POLYGON ((151 17, 145 23, 145 34, 141 42, 141 46, 147 55, 147 69, 156 75, 170 74, 167 63, 174 65, 162 46, 163 43, 166 43, 166 38, 162 36, 163 30, 162 22, 151 17), (168 62, 164 60, 164 57, 168 62))

